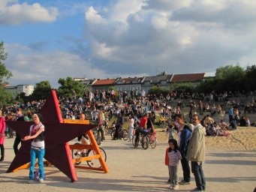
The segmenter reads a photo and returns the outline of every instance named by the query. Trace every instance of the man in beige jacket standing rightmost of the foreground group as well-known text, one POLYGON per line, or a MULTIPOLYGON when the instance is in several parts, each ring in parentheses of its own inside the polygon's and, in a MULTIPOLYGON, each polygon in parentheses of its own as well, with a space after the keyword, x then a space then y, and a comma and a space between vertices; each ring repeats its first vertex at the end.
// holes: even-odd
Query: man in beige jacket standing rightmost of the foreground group
POLYGON ((194 173, 194 180, 197 185, 192 191, 203 191, 206 190, 206 179, 203 173, 203 161, 206 154, 206 130, 200 124, 200 117, 198 115, 193 115, 192 123, 194 124, 194 130, 188 144, 187 153, 188 160, 191 160, 191 171, 194 173))

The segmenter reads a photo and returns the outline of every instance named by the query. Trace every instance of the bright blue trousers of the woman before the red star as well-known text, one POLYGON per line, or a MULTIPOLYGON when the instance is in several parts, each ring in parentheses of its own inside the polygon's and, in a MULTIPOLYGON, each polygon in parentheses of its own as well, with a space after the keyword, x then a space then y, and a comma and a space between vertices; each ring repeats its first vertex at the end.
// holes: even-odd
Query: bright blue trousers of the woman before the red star
POLYGON ((34 169, 35 169, 35 160, 38 157, 38 166, 40 179, 44 179, 44 154, 45 149, 30 149, 30 168, 29 168, 29 179, 34 180, 34 169))

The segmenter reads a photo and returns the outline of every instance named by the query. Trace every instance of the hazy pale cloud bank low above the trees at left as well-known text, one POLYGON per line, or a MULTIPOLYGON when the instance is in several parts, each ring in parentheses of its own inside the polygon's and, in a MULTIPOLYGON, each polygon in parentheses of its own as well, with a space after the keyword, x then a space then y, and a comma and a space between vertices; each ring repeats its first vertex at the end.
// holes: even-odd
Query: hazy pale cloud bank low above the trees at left
POLYGON ((52 86, 58 87, 59 78, 107 78, 104 71, 93 68, 88 61, 69 52, 33 52, 29 47, 19 44, 5 45, 5 47, 8 52, 5 65, 13 74, 11 80, 8 80, 11 84, 18 81, 35 85, 35 83, 48 80, 52 86))

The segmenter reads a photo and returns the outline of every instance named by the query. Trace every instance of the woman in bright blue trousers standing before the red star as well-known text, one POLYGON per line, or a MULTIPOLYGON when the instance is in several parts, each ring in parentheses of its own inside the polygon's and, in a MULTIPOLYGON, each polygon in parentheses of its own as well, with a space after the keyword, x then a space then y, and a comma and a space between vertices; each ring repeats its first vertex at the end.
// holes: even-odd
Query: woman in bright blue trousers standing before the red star
POLYGON ((39 182, 44 182, 44 124, 42 124, 42 115, 37 113, 33 115, 33 121, 35 124, 32 124, 29 129, 29 136, 25 136, 22 140, 27 141, 32 140, 31 149, 30 149, 30 168, 29 168, 29 181, 28 183, 34 183, 34 169, 35 169, 35 160, 38 157, 38 166, 39 166, 39 182))

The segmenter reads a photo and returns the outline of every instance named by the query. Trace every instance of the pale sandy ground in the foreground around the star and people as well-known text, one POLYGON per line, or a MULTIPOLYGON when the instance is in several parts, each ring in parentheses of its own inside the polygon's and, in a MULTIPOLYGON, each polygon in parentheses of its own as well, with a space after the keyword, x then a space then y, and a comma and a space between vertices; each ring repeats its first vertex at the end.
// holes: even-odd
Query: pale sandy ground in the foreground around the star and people
MULTIPOLYGON (((158 132, 157 147, 146 150, 133 148, 131 142, 124 140, 112 141, 107 136, 101 147, 107 152, 109 172, 77 169, 76 182, 71 182, 54 166, 45 167, 43 184, 27 184, 28 169, 6 173, 14 158, 13 143, 14 139, 5 139, 6 157, 0 162, 1 191, 170 191, 164 165, 167 134, 163 132, 158 132)), ((239 127, 227 137, 207 136, 203 170, 206 191, 253 191, 256 187, 256 127, 239 127)), ((191 184, 179 185, 176 191, 189 191, 194 187, 191 174, 191 184)))

